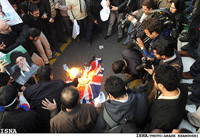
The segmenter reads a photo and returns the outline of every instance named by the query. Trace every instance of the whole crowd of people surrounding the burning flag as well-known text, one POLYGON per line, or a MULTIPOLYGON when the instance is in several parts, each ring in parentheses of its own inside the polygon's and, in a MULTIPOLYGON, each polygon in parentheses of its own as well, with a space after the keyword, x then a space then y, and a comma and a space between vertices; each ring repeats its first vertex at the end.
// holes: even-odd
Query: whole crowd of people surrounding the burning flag
POLYGON ((107 22, 100 16, 102 0, 8 1, 23 23, 10 26, 0 16, 0 58, 21 45, 33 63, 22 52, 12 52, 10 62, 19 69, 14 73, 26 75, 34 65, 39 69, 20 85, 8 73, 12 67, 0 60, 0 129, 17 133, 199 132, 199 0, 106 0, 107 22), (49 65, 56 58, 54 53, 61 52, 65 36, 71 38, 75 20, 80 34, 73 41, 85 41, 89 48, 93 32, 102 34, 104 23, 108 23, 105 41, 115 25, 117 42, 126 37, 123 59, 112 63, 113 72, 124 77, 104 76, 107 98, 96 107, 80 103, 76 87, 81 74, 71 83, 54 80, 49 65), (183 24, 188 24, 187 32, 182 32, 183 24), (182 51, 177 50, 177 40, 188 42, 182 51), (195 59, 188 72, 183 72, 182 56, 195 59), (142 83, 128 88, 136 79, 142 83), (193 83, 183 84, 181 79, 193 79, 193 83), (194 105, 196 112, 186 110, 187 105, 194 105), (182 127, 182 120, 190 127, 182 127))

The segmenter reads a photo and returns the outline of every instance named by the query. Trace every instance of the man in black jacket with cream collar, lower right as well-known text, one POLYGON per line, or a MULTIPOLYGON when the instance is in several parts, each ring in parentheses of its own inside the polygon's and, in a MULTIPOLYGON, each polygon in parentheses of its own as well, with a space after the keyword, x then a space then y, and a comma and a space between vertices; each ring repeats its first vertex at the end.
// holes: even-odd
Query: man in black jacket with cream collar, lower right
POLYGON ((182 121, 188 91, 179 84, 178 73, 170 65, 158 66, 153 73, 153 80, 157 95, 150 105, 145 132, 161 129, 170 133, 182 121))

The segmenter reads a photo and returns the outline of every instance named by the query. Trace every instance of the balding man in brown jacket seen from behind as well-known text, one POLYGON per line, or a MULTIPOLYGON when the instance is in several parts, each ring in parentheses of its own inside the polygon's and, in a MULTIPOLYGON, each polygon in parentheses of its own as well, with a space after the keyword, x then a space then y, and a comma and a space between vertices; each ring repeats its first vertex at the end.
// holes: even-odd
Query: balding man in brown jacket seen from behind
POLYGON ((50 121, 51 133, 91 131, 96 121, 97 111, 91 104, 80 104, 80 96, 76 88, 63 89, 61 103, 62 110, 50 121))

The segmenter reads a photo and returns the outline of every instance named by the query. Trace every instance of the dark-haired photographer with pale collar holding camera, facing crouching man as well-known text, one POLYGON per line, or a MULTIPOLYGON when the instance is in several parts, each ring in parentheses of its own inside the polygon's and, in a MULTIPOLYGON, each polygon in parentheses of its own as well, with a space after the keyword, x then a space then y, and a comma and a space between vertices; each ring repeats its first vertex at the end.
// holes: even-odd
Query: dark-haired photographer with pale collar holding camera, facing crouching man
MULTIPOLYGON (((168 64, 173 66, 176 71, 178 72, 178 78, 181 78, 181 74, 183 72, 183 63, 181 60, 181 56, 178 54, 178 52, 174 49, 172 39, 171 38, 161 38, 158 41, 156 41, 153 44, 153 53, 155 58, 149 58, 149 60, 158 62, 159 65, 162 64, 168 64)), ((152 66, 152 69, 146 69, 145 70, 152 75, 154 72, 154 67, 152 66)), ((151 80, 153 81, 153 80, 151 80)), ((147 91, 147 95, 149 95, 149 102, 153 100, 155 97, 155 87, 153 89, 150 89, 150 85, 152 83, 149 83, 149 89, 147 91)))

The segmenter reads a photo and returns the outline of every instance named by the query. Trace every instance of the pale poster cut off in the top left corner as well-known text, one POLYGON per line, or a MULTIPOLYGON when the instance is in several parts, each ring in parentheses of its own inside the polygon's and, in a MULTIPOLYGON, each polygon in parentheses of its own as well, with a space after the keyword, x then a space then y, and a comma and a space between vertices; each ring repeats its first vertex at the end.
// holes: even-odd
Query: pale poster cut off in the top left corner
POLYGON ((0 20, 7 22, 10 26, 23 22, 8 0, 0 0, 0 20))

